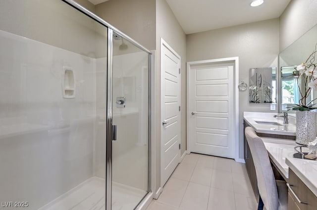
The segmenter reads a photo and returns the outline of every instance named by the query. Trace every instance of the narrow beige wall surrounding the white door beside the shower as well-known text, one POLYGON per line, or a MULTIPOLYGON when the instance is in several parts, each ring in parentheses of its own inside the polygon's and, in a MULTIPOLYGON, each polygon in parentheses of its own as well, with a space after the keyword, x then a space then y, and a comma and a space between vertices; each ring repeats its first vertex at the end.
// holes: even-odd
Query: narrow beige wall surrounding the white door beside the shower
MULTIPOLYGON (((160 39, 181 57, 181 155, 186 151, 186 35, 165 0, 156 1, 156 101, 160 102, 160 39)), ((160 103, 157 103, 156 170, 160 171, 160 103)), ((156 174, 160 186, 160 173, 156 174)))

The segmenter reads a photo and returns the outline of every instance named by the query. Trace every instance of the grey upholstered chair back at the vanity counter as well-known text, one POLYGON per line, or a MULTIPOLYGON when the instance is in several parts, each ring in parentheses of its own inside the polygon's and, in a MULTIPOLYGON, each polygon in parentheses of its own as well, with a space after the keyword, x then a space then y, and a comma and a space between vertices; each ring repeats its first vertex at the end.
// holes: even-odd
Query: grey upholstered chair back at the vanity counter
POLYGON ((256 168, 259 193, 266 210, 277 210, 278 193, 273 170, 262 139, 252 127, 246 127, 245 135, 256 168))

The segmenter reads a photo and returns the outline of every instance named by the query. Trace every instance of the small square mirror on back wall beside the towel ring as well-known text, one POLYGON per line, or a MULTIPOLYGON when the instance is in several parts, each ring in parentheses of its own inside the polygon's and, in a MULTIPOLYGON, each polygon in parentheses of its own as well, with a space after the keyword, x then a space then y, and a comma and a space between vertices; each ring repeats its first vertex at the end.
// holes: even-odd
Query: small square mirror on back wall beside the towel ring
POLYGON ((249 102, 276 103, 276 67, 250 68, 249 102))

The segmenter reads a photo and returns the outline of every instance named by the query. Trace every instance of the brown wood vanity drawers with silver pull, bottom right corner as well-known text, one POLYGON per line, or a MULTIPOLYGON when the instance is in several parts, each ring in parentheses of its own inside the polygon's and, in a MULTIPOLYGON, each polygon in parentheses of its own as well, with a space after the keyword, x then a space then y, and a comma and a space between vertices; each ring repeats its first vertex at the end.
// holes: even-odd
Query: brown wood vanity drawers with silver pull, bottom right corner
POLYGON ((288 172, 288 209, 289 210, 316 210, 317 197, 303 183, 303 181, 289 168, 288 172), (305 202, 305 204, 300 203, 305 202))

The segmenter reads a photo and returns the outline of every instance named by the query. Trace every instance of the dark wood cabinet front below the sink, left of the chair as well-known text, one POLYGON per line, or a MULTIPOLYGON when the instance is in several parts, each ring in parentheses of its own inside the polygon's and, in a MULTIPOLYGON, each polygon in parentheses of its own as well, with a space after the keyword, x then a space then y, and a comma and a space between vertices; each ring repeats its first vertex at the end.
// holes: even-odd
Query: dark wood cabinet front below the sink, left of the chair
MULTIPOLYGON (((244 121, 243 125, 244 125, 243 130, 245 130, 246 127, 250 126, 246 121, 244 121)), ((255 196, 258 197, 259 190, 258 190, 256 168, 255 168, 254 163, 253 163, 253 158, 252 158, 251 151, 250 151, 245 134, 244 134, 244 160, 246 162, 246 168, 247 168, 249 179, 250 179, 250 182, 252 185, 253 192, 254 192, 255 196)))

